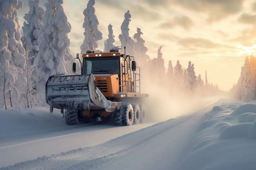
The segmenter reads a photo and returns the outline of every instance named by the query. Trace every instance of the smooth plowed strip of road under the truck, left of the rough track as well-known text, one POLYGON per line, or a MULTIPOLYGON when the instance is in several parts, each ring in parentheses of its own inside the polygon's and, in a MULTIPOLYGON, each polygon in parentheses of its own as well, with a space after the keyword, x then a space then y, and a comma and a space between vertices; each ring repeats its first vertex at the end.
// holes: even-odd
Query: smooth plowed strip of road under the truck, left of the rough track
POLYGON ((94 146, 126 133, 150 126, 113 126, 112 124, 85 124, 51 129, 40 134, 25 133, 2 137, 0 142, 0 165, 36 159, 43 155, 52 155, 80 147, 94 146))

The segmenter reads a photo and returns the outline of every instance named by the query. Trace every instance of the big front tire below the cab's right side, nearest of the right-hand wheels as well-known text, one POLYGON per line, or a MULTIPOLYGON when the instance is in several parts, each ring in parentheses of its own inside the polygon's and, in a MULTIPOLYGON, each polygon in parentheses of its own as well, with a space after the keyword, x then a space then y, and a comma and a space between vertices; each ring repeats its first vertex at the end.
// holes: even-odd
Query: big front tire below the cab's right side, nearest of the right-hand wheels
POLYGON ((133 124, 133 108, 129 103, 122 103, 119 110, 112 113, 112 122, 114 125, 130 126, 133 124))

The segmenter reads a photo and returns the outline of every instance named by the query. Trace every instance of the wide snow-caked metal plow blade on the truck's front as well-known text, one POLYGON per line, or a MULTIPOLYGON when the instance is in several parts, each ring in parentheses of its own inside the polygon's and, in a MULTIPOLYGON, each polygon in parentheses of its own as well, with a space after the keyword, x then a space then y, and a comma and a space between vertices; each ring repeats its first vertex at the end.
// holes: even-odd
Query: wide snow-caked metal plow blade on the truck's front
POLYGON ((53 108, 113 112, 121 106, 120 102, 111 102, 103 96, 92 74, 51 76, 46 83, 45 95, 51 112, 53 108))

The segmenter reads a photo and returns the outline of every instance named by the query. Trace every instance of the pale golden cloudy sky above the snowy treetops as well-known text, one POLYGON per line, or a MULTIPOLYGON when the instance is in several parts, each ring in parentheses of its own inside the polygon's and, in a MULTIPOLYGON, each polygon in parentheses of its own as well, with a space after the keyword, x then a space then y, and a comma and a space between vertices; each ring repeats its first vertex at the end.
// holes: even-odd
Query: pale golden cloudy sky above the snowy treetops
MULTIPOLYGON (((23 8, 18 11, 21 26, 24 14, 29 11, 27 0, 23 2, 23 8)), ((40 2, 44 9, 45 2, 40 2)), ((80 53, 83 43, 83 10, 87 3, 88 0, 64 0, 63 3, 72 26, 68 37, 73 55, 80 53)), ((166 69, 169 60, 173 66, 179 60, 183 68, 191 61, 196 76, 201 74, 205 80, 207 71, 208 82, 218 84, 224 91, 236 84, 245 57, 255 52, 255 0, 96 0, 94 8, 98 29, 103 33, 99 50, 104 49, 109 24, 113 26, 114 45, 121 45, 118 35, 124 14, 129 10, 130 37, 137 33, 137 28, 141 29, 141 38, 151 59, 157 57, 157 49, 163 46, 166 69)))

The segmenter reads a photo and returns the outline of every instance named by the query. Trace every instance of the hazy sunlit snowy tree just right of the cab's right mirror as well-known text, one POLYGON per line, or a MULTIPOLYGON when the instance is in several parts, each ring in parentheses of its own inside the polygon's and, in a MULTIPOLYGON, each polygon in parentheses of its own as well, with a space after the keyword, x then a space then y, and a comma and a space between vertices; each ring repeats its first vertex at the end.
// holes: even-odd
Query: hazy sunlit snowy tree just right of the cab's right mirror
POLYGON ((148 48, 144 46, 145 40, 141 38, 143 33, 141 32, 140 28, 137 28, 137 33, 133 35, 133 38, 137 41, 135 42, 134 49, 135 49, 135 57, 139 63, 146 63, 150 60, 150 57, 146 54, 148 48))

